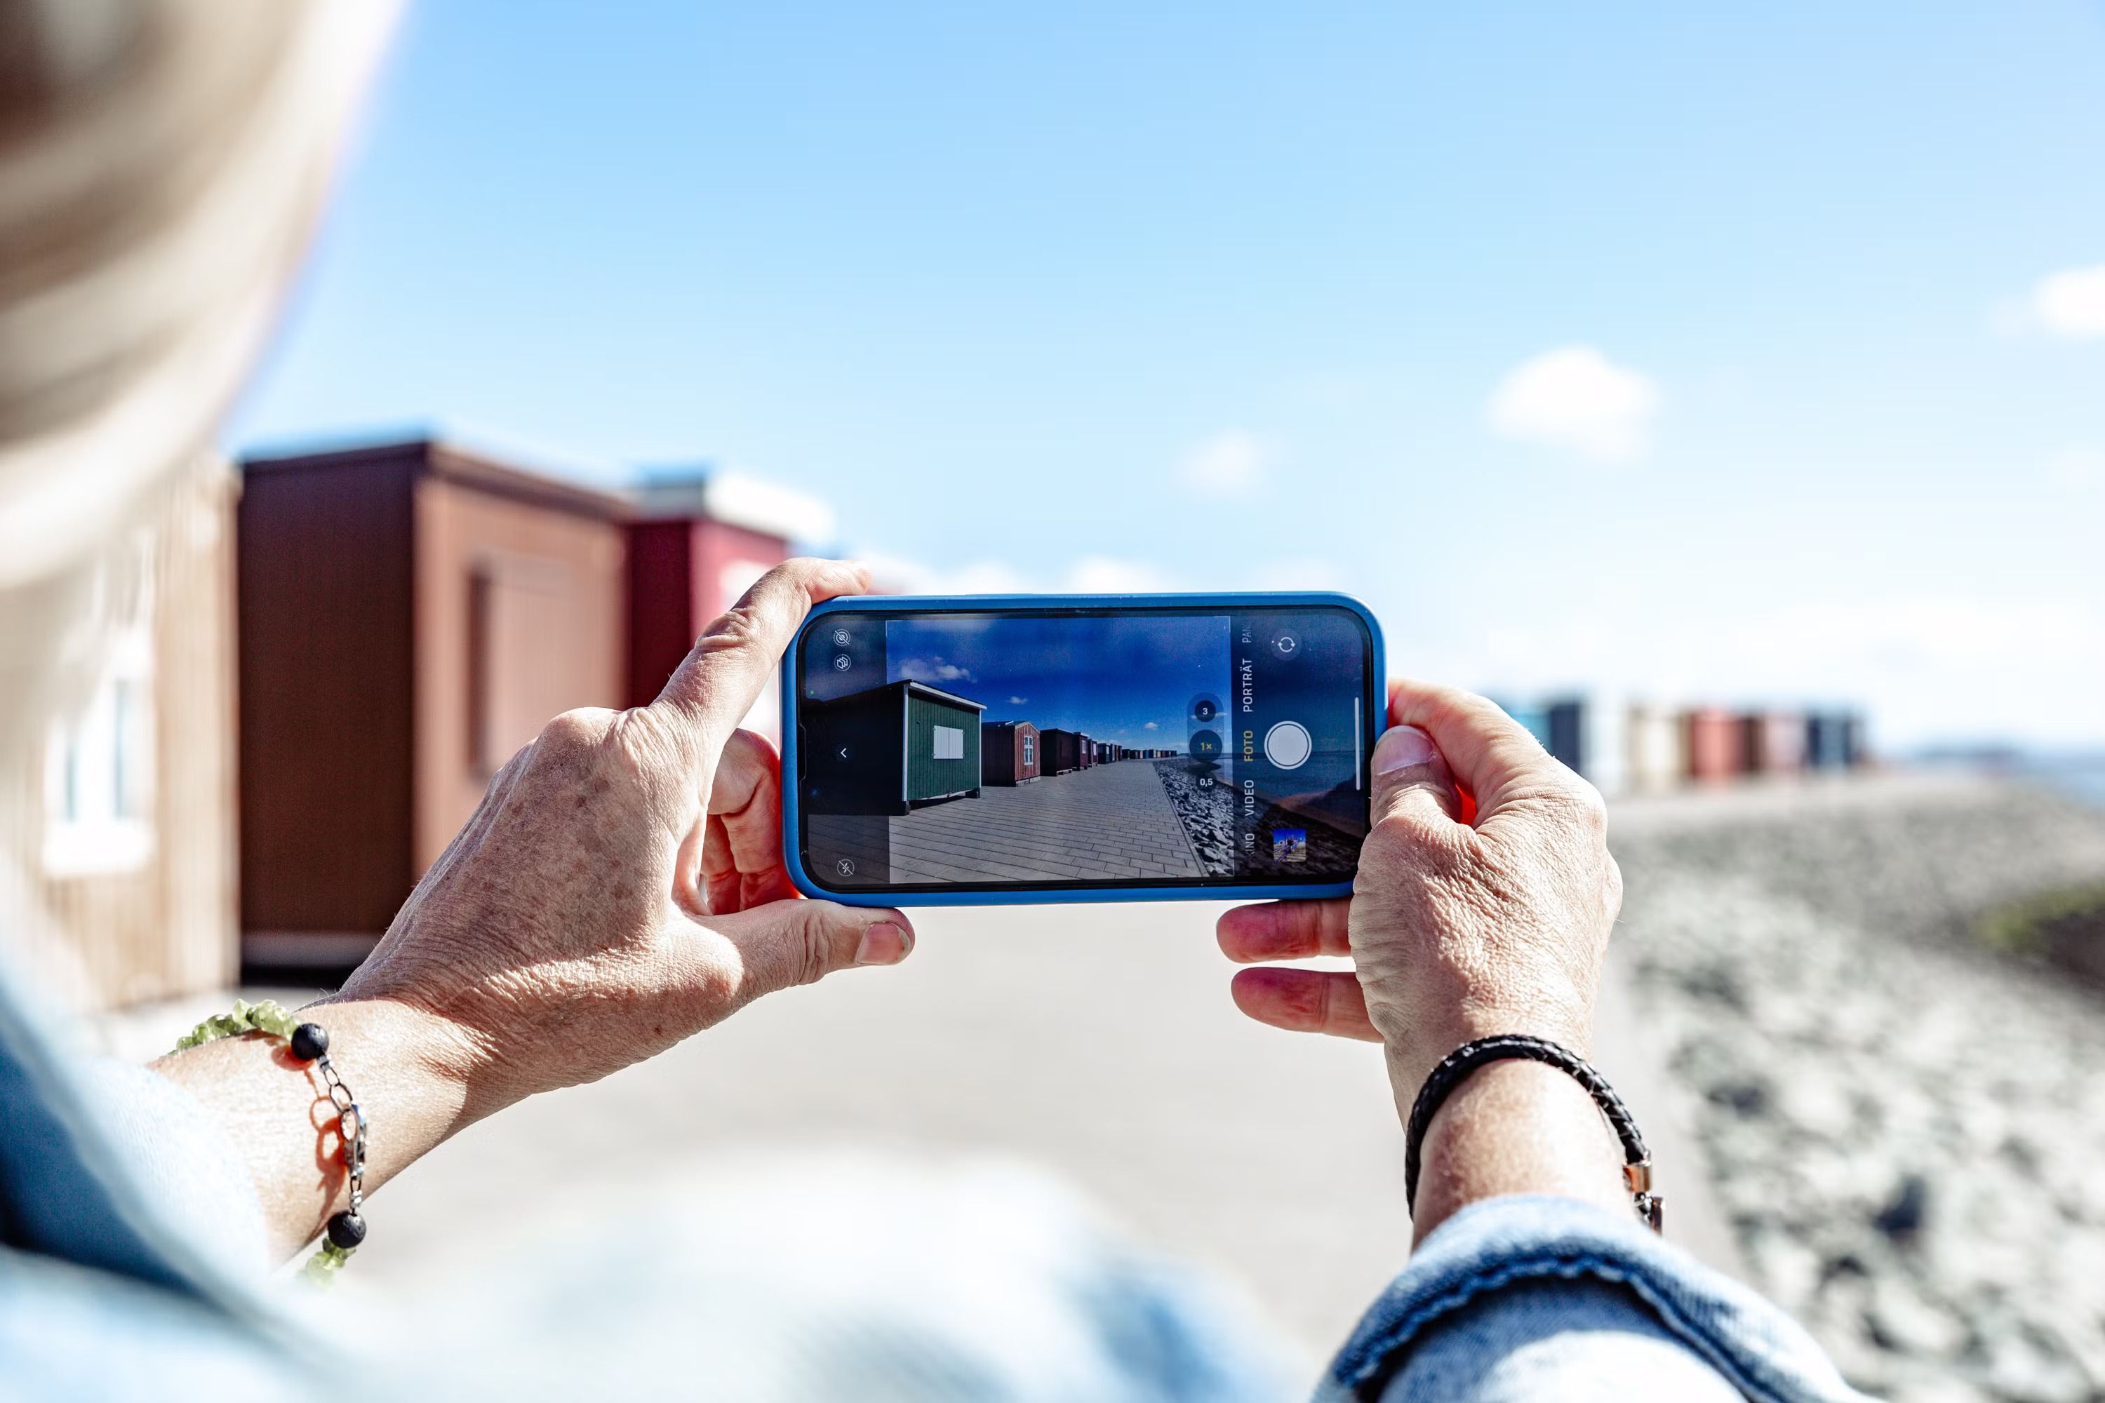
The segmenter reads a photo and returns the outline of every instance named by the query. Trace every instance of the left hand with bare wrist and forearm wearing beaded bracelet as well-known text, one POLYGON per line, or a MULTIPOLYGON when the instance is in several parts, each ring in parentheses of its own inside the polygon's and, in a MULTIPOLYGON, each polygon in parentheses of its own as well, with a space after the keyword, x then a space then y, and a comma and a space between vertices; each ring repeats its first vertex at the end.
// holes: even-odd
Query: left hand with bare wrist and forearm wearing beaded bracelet
MULTIPOLYGON (((914 949, 897 911, 802 900, 773 747, 739 730, 806 610, 867 589, 791 560, 634 711, 570 711, 490 780, 341 993, 305 1010, 373 1123, 366 1188, 533 1092, 671 1048, 764 993, 914 949)), ((345 1203, 335 1111, 261 1035, 162 1058, 248 1163, 276 1252, 345 1203)), ((385 1233, 385 1228, 375 1228, 385 1233)))

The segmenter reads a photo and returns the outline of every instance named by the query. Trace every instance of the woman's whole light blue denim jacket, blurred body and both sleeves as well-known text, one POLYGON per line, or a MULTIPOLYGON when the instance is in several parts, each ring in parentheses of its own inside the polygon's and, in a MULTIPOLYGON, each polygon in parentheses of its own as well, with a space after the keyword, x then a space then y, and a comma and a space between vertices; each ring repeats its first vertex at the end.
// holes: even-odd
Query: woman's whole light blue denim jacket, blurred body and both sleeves
MULTIPOLYGON (((960 1313, 937 1338, 924 1331, 911 1342, 876 1325, 831 1329, 819 1346, 827 1376, 853 1378, 859 1397, 882 1399, 1271 1403, 1299 1392, 1276 1353, 1189 1273, 1082 1228, 1074 1237, 1061 1268, 1071 1279, 1042 1296, 1063 1302, 1055 1306, 1067 1315, 1061 1325, 1082 1342, 1084 1359, 1069 1361, 1059 1384, 998 1348, 987 1321, 1002 1317, 991 1310, 960 1313)), ((288 1323, 257 1289, 259 1241, 246 1167, 210 1117, 154 1073, 65 1062, 0 982, 0 1397, 335 1392, 341 1369, 368 1367, 356 1350, 373 1342, 322 1340, 288 1323)), ((709 1302, 663 1304, 667 1319, 709 1317, 709 1302)), ((596 1397, 589 1308, 568 1327, 583 1342, 566 1355, 577 1369, 535 1376, 530 1397, 596 1397)), ((777 1338, 800 1340, 794 1331, 777 1338)), ((764 1353, 758 1338, 745 1340, 764 1353)), ((796 1346, 796 1361, 775 1365, 726 1359, 735 1350, 739 1340, 697 1350, 653 1392, 796 1397, 768 1380, 796 1378, 791 1363, 808 1376, 813 1363, 810 1338, 796 1346)), ((472 1363, 444 1359, 379 1369, 381 1380, 415 1384, 432 1384, 434 1369, 453 1374, 455 1386, 476 1378, 472 1363)), ((1789 1317, 1633 1220, 1568 1199, 1511 1197, 1455 1214, 1425 1241, 1368 1308, 1316 1397, 1796 1403, 1857 1395, 1789 1317)))

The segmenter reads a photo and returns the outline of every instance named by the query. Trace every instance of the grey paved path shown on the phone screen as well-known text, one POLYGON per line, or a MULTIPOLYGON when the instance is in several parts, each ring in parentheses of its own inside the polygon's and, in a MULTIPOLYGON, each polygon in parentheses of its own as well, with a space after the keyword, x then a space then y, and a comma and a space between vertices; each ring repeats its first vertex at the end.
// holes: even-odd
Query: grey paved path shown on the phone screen
MULTIPOLYGON (((813 816, 810 854, 836 852, 861 873, 882 856, 859 841, 867 818, 813 816)), ((1029 785, 987 785, 977 799, 947 799, 886 820, 893 881, 1010 881, 1204 877, 1156 766, 1124 759, 1029 785)))

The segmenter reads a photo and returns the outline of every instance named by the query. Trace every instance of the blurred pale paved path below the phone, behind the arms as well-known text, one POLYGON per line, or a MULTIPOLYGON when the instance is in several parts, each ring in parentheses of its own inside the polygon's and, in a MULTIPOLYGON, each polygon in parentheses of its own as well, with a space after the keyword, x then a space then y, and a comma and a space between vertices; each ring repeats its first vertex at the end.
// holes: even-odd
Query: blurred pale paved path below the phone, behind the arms
MULTIPOLYGON (((1151 766, 1120 768, 1154 782, 1151 766)), ((375 1199, 358 1275, 410 1292, 516 1237, 522 1214, 617 1212, 667 1176, 756 1153, 994 1155, 1050 1170, 1139 1239, 1242 1283, 1314 1369, 1410 1252, 1404 1138, 1377 1048, 1236 1012, 1221 909, 918 911, 920 947, 899 970, 762 999, 440 1146, 375 1199)), ((101 1020, 103 1045, 149 1056, 223 999, 187 1003, 101 1020)), ((1669 1239, 1732 1270, 1612 963, 1600 1012, 1596 1056, 1655 1144, 1669 1239)))

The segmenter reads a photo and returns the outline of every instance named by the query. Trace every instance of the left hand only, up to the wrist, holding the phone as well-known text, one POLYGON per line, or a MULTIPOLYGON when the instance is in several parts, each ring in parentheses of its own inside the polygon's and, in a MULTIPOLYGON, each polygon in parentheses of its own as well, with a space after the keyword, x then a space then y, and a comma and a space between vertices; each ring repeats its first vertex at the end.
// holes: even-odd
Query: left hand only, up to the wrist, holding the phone
POLYGON ((455 1029, 474 1119, 640 1062, 764 993, 905 959, 897 911, 798 898, 779 759, 739 730, 808 608, 867 585, 859 566, 777 566, 655 703, 549 721, 339 997, 455 1029))

